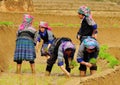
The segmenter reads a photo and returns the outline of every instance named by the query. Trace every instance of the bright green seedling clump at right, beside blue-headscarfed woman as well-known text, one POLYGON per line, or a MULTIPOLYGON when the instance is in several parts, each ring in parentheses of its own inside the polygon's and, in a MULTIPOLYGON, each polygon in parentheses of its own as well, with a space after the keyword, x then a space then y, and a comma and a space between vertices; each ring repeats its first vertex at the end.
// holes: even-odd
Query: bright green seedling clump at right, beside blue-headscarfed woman
POLYGON ((107 60, 107 62, 109 63, 109 67, 114 68, 114 66, 120 64, 120 61, 117 60, 113 55, 107 53, 106 52, 107 49, 108 47, 106 45, 101 46, 99 57, 107 60))

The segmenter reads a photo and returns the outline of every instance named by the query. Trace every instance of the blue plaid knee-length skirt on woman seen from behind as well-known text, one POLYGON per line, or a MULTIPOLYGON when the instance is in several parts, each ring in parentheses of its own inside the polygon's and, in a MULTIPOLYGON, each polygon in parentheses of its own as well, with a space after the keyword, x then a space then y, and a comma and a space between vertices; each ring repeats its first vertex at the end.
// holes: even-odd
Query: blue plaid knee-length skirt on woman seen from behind
POLYGON ((14 61, 34 61, 36 58, 35 47, 32 40, 19 38, 16 40, 14 61))

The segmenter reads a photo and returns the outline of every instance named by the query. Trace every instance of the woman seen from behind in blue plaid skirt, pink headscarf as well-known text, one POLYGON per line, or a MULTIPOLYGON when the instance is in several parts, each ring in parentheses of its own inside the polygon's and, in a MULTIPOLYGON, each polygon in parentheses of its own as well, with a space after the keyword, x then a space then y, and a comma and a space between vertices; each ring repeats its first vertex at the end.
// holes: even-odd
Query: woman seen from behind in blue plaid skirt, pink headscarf
MULTIPOLYGON (((17 73, 21 72, 21 64, 23 60, 29 61, 32 73, 35 72, 34 60, 35 54, 35 36, 36 30, 31 26, 33 17, 25 14, 23 23, 17 32, 16 49, 14 61, 17 62, 17 73)), ((36 39, 37 40, 37 39, 36 39)))

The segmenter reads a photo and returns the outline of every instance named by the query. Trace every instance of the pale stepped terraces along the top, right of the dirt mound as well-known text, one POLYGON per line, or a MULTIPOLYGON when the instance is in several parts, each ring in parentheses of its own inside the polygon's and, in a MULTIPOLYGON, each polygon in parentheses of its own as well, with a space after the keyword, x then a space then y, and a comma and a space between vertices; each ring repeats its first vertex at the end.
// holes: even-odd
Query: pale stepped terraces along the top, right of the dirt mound
POLYGON ((45 14, 75 15, 81 5, 86 5, 93 12, 120 12, 120 6, 112 2, 92 0, 33 0, 35 12, 45 14))

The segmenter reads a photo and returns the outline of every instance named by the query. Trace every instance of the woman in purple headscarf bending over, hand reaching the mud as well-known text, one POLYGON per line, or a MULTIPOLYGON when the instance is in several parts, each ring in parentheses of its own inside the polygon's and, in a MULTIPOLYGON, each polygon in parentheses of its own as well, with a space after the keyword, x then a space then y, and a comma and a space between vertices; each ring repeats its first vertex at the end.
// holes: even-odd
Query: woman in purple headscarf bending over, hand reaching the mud
POLYGON ((50 58, 47 60, 46 75, 50 75, 53 64, 58 60, 58 66, 70 77, 70 62, 73 60, 75 45, 69 38, 56 38, 49 49, 50 58), (63 63, 65 61, 66 68, 63 63))

